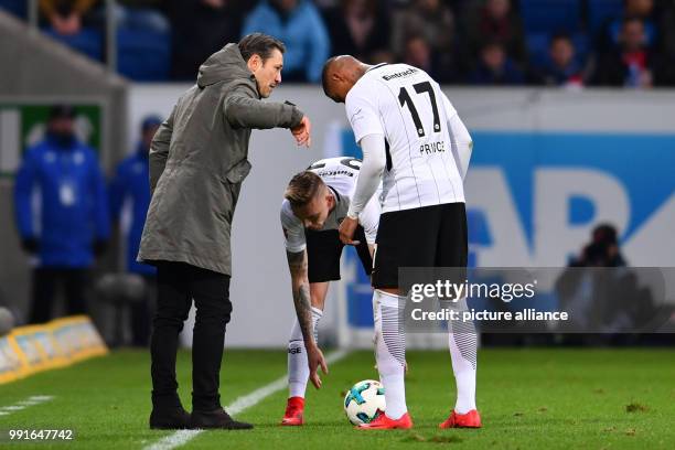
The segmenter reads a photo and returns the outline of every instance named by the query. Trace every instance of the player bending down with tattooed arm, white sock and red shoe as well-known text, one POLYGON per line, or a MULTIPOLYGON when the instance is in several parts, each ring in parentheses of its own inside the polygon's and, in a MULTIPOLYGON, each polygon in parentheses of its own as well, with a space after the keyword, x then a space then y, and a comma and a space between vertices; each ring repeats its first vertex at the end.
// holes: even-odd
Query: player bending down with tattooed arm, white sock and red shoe
MULTIPOLYGON (((346 216, 356 186, 361 161, 355 158, 330 158, 317 161, 294 175, 281 204, 281 226, 286 238, 288 267, 291 274, 297 319, 288 343, 289 398, 281 425, 304 422, 304 390, 310 378, 308 358, 325 372, 323 355, 317 345, 317 326, 323 315, 329 281, 340 279, 340 257, 344 244, 338 227, 346 216)), ((373 246, 379 222, 377 195, 360 214, 354 240, 366 274, 373 267, 373 246)), ((311 379, 320 387, 321 379, 311 379)))

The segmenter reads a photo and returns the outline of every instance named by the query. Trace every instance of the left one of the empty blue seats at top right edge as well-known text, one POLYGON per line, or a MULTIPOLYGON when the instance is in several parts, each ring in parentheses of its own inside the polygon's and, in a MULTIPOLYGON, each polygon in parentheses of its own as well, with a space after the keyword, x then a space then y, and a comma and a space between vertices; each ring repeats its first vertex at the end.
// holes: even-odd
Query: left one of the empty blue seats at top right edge
POLYGON ((580 0, 521 0, 525 32, 577 31, 580 4, 580 0))

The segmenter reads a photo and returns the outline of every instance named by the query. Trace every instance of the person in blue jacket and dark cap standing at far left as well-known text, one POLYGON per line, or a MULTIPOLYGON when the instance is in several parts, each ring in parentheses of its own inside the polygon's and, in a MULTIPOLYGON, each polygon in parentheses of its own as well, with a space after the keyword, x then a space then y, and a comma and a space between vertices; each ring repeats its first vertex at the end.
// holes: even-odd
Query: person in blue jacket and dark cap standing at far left
POLYGON ((44 140, 25 151, 17 173, 14 211, 21 245, 36 257, 29 323, 53 318, 60 285, 66 314, 87 313, 88 269, 110 235, 98 158, 75 136, 74 120, 74 108, 52 107, 44 140))

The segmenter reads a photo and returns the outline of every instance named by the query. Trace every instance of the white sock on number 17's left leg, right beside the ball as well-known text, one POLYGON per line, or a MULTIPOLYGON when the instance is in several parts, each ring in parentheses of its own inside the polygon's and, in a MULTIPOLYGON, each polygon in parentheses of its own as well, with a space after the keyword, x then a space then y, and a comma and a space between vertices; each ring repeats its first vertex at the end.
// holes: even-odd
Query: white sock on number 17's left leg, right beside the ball
MULTIPOLYGON (((398 318, 401 298, 375 289, 373 312, 375 319, 375 358, 379 381, 385 388, 385 414, 397 420, 408 411, 406 406, 405 364, 406 335, 398 318), (400 328, 399 328, 400 325, 400 328)), ((405 299, 405 298, 404 298, 405 299)))

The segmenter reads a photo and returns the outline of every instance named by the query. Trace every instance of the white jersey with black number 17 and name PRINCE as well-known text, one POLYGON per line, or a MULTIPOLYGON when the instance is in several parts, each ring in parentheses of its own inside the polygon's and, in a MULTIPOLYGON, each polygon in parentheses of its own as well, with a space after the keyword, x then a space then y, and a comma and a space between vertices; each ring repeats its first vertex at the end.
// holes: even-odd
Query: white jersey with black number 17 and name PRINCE
POLYGON ((383 213, 464 202, 448 126, 457 110, 425 71, 374 66, 349 92, 345 109, 356 142, 385 137, 383 213))

